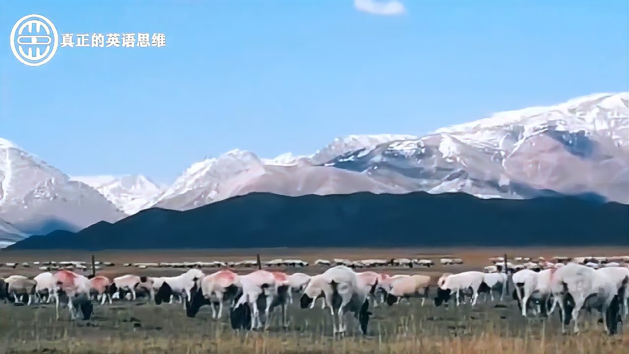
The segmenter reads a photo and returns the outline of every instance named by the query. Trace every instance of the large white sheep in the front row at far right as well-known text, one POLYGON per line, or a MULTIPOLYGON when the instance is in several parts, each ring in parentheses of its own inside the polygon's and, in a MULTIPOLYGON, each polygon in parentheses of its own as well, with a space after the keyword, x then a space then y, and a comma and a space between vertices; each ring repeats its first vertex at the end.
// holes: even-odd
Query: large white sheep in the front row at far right
POLYGON ((551 282, 553 296, 559 302, 563 333, 572 319, 574 333, 579 333, 579 311, 584 307, 601 312, 608 334, 618 332, 620 298, 616 283, 608 274, 570 263, 556 270, 551 282))

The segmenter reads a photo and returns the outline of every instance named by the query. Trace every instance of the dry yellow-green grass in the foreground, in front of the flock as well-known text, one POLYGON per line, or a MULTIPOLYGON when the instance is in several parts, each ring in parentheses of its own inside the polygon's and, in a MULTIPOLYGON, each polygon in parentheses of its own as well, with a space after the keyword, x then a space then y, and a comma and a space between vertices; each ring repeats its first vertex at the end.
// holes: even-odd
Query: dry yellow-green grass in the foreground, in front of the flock
MULTIPOLYGON (((369 335, 350 326, 346 338, 331 336, 329 312, 289 309, 289 329, 233 331, 204 308, 188 318, 181 304, 156 306, 138 300, 96 306, 90 321, 54 321, 51 305, 0 305, 0 352, 8 353, 621 353, 627 331, 603 333, 597 316, 584 315, 583 331, 560 334, 557 316, 525 319, 513 301, 475 309, 435 307, 419 301, 372 309, 369 335)), ((350 319, 351 321, 351 319, 350 319)))

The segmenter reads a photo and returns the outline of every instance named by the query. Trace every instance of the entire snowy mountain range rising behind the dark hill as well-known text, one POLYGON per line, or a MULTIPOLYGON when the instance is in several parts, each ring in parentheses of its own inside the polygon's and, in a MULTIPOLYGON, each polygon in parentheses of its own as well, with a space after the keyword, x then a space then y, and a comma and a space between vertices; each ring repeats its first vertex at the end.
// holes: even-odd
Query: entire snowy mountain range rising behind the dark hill
POLYGON ((237 149, 192 164, 168 186, 142 175, 70 177, 0 138, 0 247, 147 208, 189 210, 252 192, 426 191, 505 199, 587 193, 628 204, 628 107, 628 93, 600 93, 421 137, 349 135, 309 156, 266 159, 237 149))

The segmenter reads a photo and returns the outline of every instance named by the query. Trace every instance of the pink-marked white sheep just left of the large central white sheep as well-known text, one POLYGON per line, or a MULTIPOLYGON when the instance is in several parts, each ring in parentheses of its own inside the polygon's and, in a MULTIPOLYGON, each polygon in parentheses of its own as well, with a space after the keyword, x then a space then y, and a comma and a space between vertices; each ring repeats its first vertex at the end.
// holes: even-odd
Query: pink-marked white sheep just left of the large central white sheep
POLYGON ((288 277, 284 273, 256 270, 240 276, 241 296, 230 314, 231 328, 268 328, 270 312, 282 306, 282 321, 286 327, 286 292, 288 277), (262 316, 260 307, 264 309, 262 316))

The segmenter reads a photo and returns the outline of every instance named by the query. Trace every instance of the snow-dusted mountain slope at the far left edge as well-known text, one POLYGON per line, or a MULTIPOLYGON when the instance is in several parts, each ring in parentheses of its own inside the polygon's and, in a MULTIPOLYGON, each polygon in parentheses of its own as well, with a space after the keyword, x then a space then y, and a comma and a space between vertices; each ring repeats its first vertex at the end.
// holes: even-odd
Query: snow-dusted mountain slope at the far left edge
POLYGON ((79 230, 123 217, 90 186, 0 139, 0 219, 24 234, 79 230))

